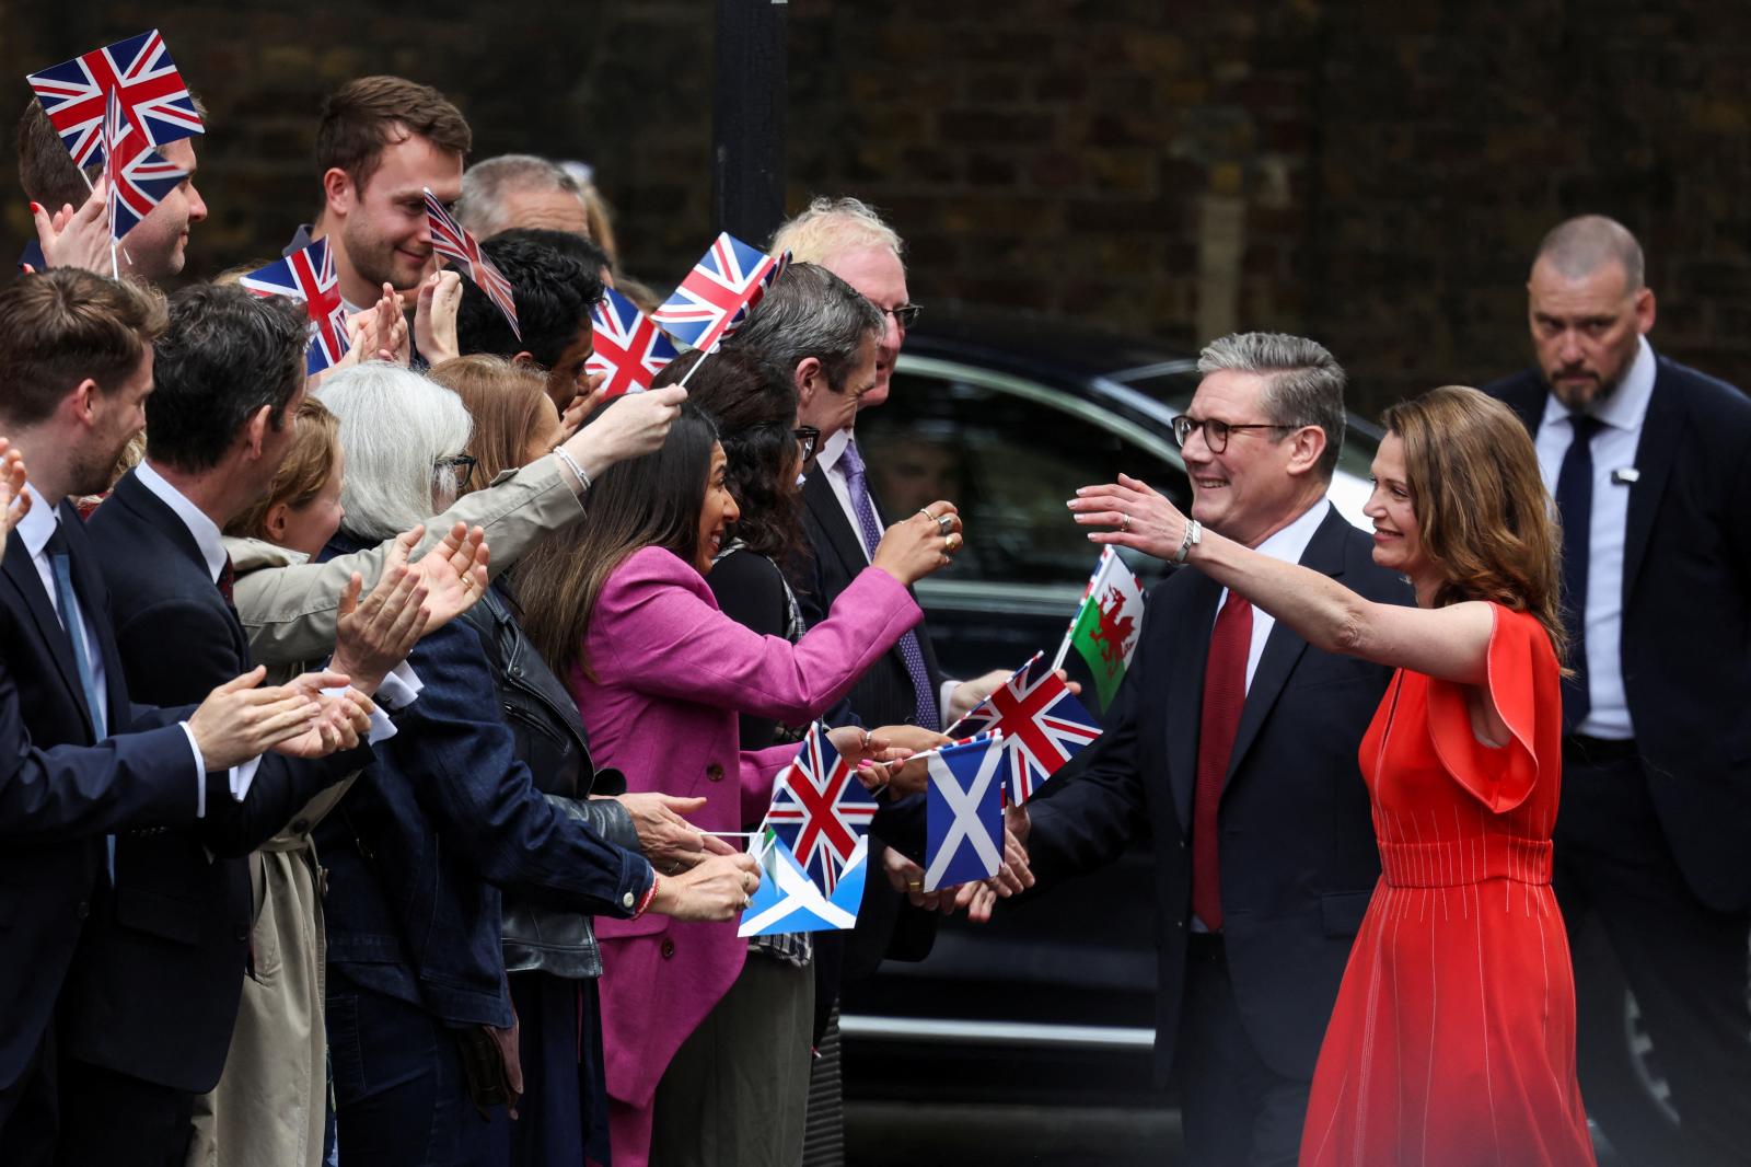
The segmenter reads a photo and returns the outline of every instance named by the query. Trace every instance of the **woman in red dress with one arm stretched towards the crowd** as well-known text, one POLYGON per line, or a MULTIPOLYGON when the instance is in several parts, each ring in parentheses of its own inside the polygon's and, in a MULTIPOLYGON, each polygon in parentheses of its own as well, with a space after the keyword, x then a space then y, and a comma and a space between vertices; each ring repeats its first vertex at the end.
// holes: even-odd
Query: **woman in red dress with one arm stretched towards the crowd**
POLYGON ((1476 389, 1387 412, 1375 561, 1417 608, 1189 522, 1142 482, 1072 503, 1101 543, 1198 569, 1308 643, 1397 666, 1362 739, 1382 876, 1313 1072, 1301 1163, 1592 1163, 1550 890, 1562 778, 1558 534, 1525 428, 1476 389))

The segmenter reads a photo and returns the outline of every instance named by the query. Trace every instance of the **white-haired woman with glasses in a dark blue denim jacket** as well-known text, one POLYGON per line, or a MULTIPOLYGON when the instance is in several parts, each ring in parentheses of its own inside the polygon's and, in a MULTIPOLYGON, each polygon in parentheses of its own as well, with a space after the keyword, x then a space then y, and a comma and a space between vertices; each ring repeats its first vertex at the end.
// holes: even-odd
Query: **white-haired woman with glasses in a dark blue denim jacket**
MULTIPOLYGON (((319 398, 347 459, 345 520, 324 557, 445 508, 473 471, 466 407, 417 373, 362 364, 319 398)), ((447 624, 408 661, 420 699, 317 829, 340 1146, 366 1163, 480 1162, 487 1125, 464 1102, 485 1114, 522 1086, 501 890, 618 918, 728 920, 760 876, 746 855, 711 855, 658 880, 543 799, 471 624, 447 624)))

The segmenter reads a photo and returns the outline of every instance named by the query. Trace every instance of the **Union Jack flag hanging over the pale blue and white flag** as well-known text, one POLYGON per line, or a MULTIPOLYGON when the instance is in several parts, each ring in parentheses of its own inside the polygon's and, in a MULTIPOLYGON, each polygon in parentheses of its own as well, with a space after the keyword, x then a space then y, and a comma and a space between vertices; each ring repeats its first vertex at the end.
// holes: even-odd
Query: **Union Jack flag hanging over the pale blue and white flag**
POLYGON ((876 796, 839 757, 825 729, 811 725, 797 760, 772 785, 767 825, 784 839, 814 885, 832 895, 872 818, 876 796))

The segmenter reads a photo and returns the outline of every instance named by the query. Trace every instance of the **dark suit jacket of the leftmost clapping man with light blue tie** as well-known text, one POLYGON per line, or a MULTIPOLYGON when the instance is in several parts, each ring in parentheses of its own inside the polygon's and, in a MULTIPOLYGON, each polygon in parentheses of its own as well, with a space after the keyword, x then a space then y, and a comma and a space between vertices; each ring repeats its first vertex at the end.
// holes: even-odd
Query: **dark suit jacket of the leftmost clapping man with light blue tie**
MULTIPOLYGON (((128 701, 109 591, 84 522, 61 505, 74 592, 103 655, 109 731, 93 743, 79 666, 16 533, 0 569, 0 1088, 18 1081, 54 1013, 103 881, 103 836, 194 818, 187 710, 128 701)), ((205 776, 207 797, 224 774, 205 776)))

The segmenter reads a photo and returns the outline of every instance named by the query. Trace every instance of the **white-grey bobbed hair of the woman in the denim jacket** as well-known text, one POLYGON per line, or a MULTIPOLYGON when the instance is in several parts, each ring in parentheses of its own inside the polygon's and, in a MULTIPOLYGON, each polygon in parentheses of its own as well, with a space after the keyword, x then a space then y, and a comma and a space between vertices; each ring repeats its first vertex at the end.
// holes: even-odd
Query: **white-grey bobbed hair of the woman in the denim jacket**
POLYGON ((425 522, 462 487, 454 466, 436 463, 468 449, 475 422, 452 391, 399 364, 369 361, 334 373, 317 400, 340 419, 347 478, 341 526, 368 541, 425 522))

